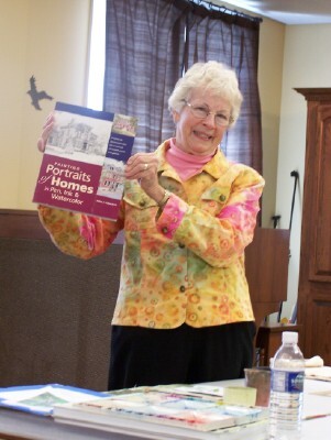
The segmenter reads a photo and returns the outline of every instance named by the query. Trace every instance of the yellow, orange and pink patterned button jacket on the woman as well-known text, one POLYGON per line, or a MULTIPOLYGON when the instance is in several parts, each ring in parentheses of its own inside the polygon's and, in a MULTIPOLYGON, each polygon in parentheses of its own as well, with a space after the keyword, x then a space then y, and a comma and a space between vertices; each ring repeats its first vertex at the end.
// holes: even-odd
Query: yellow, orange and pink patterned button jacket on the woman
POLYGON ((54 243, 90 258, 124 229, 113 324, 168 329, 254 320, 244 268, 264 179, 222 152, 181 182, 158 148, 159 184, 172 193, 161 210, 136 180, 125 183, 117 222, 38 207, 54 243))

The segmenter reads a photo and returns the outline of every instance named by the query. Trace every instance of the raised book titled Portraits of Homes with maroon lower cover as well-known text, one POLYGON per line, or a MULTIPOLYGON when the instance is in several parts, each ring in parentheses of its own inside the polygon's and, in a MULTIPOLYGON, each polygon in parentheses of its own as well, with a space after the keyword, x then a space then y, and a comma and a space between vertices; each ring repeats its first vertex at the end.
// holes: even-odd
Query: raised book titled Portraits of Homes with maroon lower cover
POLYGON ((137 119, 56 102, 33 202, 117 220, 137 119))

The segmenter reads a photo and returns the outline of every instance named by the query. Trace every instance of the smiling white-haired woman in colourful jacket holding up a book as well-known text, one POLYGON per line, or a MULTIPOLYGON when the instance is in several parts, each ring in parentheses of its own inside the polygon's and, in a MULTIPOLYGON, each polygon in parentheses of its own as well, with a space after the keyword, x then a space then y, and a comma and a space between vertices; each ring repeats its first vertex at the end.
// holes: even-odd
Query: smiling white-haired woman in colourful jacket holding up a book
MULTIPOLYGON (((244 250, 264 180, 220 151, 241 102, 230 68, 195 64, 168 101, 175 138, 128 161, 117 222, 38 208, 55 244, 81 258, 104 252, 124 229, 109 389, 238 378, 252 365, 244 250)), ((52 127, 53 117, 42 151, 52 127)))

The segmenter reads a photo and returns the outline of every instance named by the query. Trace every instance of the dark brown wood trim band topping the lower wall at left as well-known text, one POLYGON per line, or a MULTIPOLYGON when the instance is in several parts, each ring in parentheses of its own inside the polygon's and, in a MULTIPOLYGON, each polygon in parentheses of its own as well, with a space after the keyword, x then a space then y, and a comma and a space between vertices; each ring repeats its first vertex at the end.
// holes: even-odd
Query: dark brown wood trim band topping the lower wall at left
POLYGON ((37 211, 0 209, 0 238, 49 239, 42 227, 37 211))

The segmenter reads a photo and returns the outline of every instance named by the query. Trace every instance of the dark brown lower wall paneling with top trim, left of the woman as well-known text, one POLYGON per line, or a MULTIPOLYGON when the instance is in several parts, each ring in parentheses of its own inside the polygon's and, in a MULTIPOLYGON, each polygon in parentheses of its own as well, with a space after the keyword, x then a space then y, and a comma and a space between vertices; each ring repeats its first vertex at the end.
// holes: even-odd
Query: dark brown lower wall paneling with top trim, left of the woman
POLYGON ((122 245, 65 255, 34 211, 0 211, 0 386, 107 389, 122 245))

